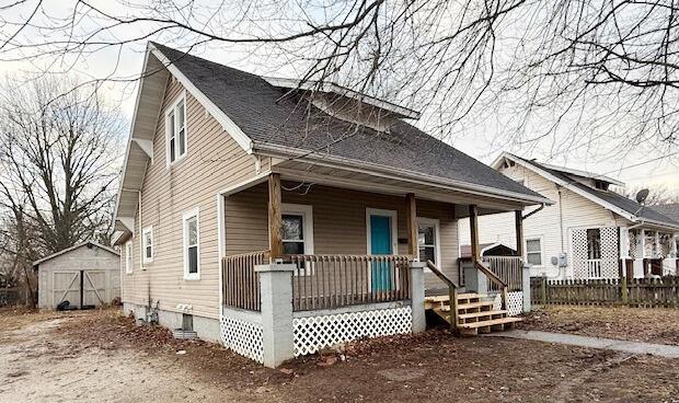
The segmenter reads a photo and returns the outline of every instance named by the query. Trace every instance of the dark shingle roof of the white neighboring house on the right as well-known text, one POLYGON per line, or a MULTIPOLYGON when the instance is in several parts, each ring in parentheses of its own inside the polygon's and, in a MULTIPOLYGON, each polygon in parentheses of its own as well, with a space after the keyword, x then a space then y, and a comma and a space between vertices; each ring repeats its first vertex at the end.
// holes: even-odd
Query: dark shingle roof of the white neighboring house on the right
POLYGON ((677 220, 672 220, 670 217, 667 217, 658 211, 656 211, 654 208, 652 207, 644 207, 642 205, 640 205, 638 203, 636 203, 636 200, 632 200, 630 198, 626 198, 615 192, 612 191, 602 191, 602 189, 597 189, 594 187, 589 187, 585 184, 582 184, 575 180, 573 180, 572 177, 569 177, 567 174, 559 171, 557 169, 554 168, 548 168, 544 166, 543 164, 537 162, 537 161, 532 161, 532 160, 527 160, 525 158, 521 157, 517 157, 514 156, 520 160, 523 160, 526 163, 532 164, 533 166, 546 171, 548 173, 552 174, 553 176, 556 176, 559 180, 562 180, 566 183, 568 183, 572 186, 575 186, 584 192, 589 193, 590 195, 608 203, 611 204, 633 216, 640 217, 642 219, 648 219, 648 220, 653 220, 653 221, 657 221, 657 222, 666 222, 672 226, 679 226, 679 221, 677 220))

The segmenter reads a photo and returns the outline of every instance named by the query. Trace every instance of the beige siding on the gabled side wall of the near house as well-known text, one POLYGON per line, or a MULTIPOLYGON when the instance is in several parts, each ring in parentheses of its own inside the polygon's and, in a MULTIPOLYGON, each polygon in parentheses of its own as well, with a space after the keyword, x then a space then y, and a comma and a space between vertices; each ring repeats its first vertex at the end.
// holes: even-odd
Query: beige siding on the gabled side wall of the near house
MULTIPOLYGON (((166 165, 165 110, 183 87, 170 78, 153 137, 153 161, 142 187, 141 222, 135 220, 134 274, 124 275, 124 301, 160 301, 175 311, 188 303, 193 313, 219 315, 217 193, 255 175, 255 157, 243 149, 186 92, 186 157, 166 165), (184 279, 182 215, 199 209, 199 280, 184 279), (141 228, 153 226, 153 262, 140 266, 141 228)), ((267 160, 265 162, 268 162, 267 160)))

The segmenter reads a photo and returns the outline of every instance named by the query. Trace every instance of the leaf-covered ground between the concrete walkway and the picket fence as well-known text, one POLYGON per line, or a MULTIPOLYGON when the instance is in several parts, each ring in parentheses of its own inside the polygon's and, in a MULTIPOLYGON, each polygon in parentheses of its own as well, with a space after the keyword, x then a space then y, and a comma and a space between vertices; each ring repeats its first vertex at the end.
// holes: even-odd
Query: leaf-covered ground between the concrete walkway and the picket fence
POLYGON ((520 329, 679 345, 678 309, 548 307, 520 329))

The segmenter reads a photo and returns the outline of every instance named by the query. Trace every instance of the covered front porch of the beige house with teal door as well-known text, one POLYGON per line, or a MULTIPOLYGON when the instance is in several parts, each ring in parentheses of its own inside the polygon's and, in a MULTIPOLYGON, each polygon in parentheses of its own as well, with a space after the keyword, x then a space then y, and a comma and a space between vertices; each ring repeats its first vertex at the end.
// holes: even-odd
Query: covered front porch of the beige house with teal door
MULTIPOLYGON (((476 226, 480 211, 499 205, 312 185, 271 174, 226 195, 223 206, 222 338, 238 353, 276 366, 280 357, 360 337, 424 331, 425 290, 442 290, 449 312, 457 312, 458 295, 464 291, 459 287, 457 220, 469 216, 476 226), (276 345, 288 355, 266 353, 276 345)), ((483 303, 494 311, 491 319, 507 316, 509 296, 517 291, 521 298, 513 313, 519 313, 520 257, 482 261, 474 233, 474 267, 491 285, 479 293, 493 300, 483 303)), ((480 327, 485 320, 464 313, 469 318, 441 316, 456 332, 472 322, 480 327)))

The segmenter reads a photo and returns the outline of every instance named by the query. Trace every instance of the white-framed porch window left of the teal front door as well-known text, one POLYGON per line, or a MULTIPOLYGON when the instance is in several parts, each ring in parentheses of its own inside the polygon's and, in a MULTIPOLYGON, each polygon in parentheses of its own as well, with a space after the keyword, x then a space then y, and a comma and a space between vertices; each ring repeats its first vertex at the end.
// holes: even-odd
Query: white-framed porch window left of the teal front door
POLYGON ((283 205, 283 253, 313 254, 313 212, 311 206, 283 205))

